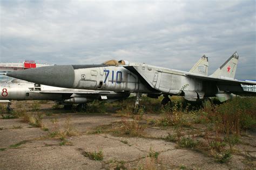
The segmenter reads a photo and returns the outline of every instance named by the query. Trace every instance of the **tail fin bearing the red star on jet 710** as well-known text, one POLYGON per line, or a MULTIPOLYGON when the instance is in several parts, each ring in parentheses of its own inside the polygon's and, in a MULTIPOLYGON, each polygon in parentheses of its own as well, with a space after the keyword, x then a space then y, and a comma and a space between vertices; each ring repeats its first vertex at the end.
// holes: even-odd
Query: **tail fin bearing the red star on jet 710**
POLYGON ((223 65, 220 66, 211 77, 220 79, 234 79, 235 71, 237 70, 238 54, 235 52, 223 65))

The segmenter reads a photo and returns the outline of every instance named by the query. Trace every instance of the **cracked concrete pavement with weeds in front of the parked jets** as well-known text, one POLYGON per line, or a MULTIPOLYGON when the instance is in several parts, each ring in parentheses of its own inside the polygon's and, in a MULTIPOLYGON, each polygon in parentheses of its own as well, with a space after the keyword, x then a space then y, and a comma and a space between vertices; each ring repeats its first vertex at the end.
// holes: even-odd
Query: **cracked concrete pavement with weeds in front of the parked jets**
MULTIPOLYGON (((12 108, 31 108, 32 101, 12 102, 12 108), (22 104, 21 104, 22 103, 22 104)), ((117 126, 122 117, 115 114, 80 114, 63 109, 53 110, 53 102, 43 103, 37 112, 44 114, 43 128, 35 128, 22 118, 0 119, 0 169, 254 169, 256 168, 256 134, 247 133, 247 144, 235 146, 239 151, 225 164, 213 157, 177 147, 176 143, 162 138, 173 132, 172 128, 149 127, 143 137, 114 136, 97 131, 97 127, 117 126), (77 136, 66 137, 64 145, 59 137, 49 133, 62 128, 67 119, 77 136), (53 121, 55 120, 55 121, 53 121), (84 152, 102 150, 103 160, 84 156, 84 152), (150 150, 159 155, 149 160, 150 150), (153 164, 153 165, 152 165, 153 164)), ((157 117, 158 115, 147 115, 157 117)), ((200 129, 199 129, 200 130, 200 129)))

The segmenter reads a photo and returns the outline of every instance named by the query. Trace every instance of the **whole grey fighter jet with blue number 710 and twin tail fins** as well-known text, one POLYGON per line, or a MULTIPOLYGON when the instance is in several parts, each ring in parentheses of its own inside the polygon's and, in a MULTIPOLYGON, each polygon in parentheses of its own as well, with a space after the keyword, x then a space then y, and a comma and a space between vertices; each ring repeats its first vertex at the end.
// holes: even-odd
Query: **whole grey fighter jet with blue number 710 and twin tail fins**
MULTIPOLYGON (((125 60, 109 60, 100 65, 47 66, 8 73, 8 76, 63 88, 130 91, 137 93, 137 98, 141 93, 154 98, 163 94, 162 104, 169 102, 172 95, 184 96, 188 101, 220 95, 225 101, 231 93, 250 94, 241 84, 255 84, 234 79, 238 59, 235 52, 210 76, 202 61, 196 67, 198 70, 183 72, 125 60)), ((207 63, 207 58, 204 61, 207 63)))

